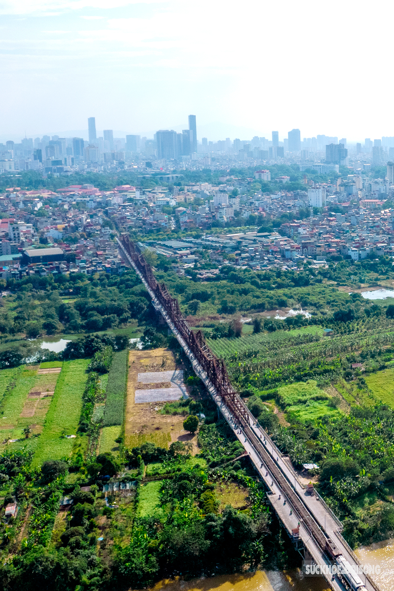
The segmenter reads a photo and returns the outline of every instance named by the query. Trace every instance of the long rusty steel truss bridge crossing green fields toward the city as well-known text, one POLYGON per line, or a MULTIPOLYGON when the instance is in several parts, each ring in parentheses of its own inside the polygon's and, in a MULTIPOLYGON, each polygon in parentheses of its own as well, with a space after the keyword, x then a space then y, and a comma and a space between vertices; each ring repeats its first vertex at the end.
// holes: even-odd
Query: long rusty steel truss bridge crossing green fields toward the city
MULTIPOLYGON (((224 361, 218 359, 206 345, 201 330, 195 332, 190 329, 177 299, 170 296, 164 283, 156 281, 150 265, 137 251, 134 242, 127 235, 121 235, 117 242, 125 261, 145 285, 154 308, 166 320, 196 375, 204 382, 235 436, 243 444, 259 478, 266 485, 267 498, 296 550, 305 560, 329 565, 325 542, 331 538, 351 566, 359 565, 359 559, 341 535, 341 522, 317 492, 309 495, 306 491, 288 457, 277 449, 232 387, 224 361)), ((351 591, 338 576, 324 576, 334 591, 351 591)), ((367 591, 380 591, 369 574, 360 577, 367 591)))

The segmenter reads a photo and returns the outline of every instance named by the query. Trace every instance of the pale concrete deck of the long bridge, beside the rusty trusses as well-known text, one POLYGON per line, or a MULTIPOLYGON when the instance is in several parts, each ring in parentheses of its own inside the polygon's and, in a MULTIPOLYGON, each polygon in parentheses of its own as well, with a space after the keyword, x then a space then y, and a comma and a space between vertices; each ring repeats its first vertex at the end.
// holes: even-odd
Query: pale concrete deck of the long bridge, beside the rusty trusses
MULTIPOLYGON (((335 517, 328 506, 325 505, 319 495, 315 493, 314 496, 311 496, 306 492, 301 482, 299 482, 295 471, 285 462, 282 453, 277 449, 268 434, 255 422, 253 415, 250 414, 250 426, 246 423, 241 425, 239 421, 237 422, 237 419, 231 414, 224 400, 217 394, 217 391, 209 380, 209 376, 206 375, 204 369, 196 360, 188 344, 172 322, 169 314, 167 314, 166 310, 157 300, 143 275, 137 269, 133 259, 123 248, 122 243, 120 241, 118 243, 122 254, 134 268, 135 272, 137 272, 141 281, 143 281, 152 298, 153 306, 166 320, 186 355, 188 355, 196 375, 202 379, 225 420, 250 456, 260 478, 264 480, 269 490, 267 498, 289 535, 291 536, 292 529, 296 528, 298 523, 300 523, 299 537, 317 564, 329 564, 328 558, 325 556, 321 547, 322 544, 324 545, 325 538, 327 537, 335 541, 335 545, 340 548, 344 558, 351 565, 360 564, 360 561, 340 534, 342 529, 341 522, 335 517)), ((325 576, 325 578, 334 591, 344 591, 346 589, 338 577, 325 576)), ((379 586, 371 577, 361 575, 361 578, 367 591, 380 591, 379 586)))

